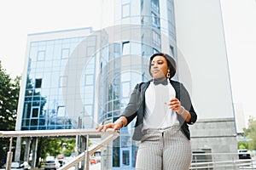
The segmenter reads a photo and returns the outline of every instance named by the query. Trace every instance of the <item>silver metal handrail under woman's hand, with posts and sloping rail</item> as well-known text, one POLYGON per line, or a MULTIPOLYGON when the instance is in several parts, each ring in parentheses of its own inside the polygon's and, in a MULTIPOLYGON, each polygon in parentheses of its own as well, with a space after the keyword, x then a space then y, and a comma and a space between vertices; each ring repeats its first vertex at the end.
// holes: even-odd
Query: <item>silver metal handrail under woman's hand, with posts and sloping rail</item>
MULTIPOLYGON (((113 139, 116 139, 119 136, 119 133, 113 132, 112 130, 108 130, 107 132, 97 132, 94 128, 79 128, 79 129, 57 129, 57 130, 26 130, 26 131, 0 131, 0 138, 10 138, 9 143, 9 152, 8 152, 8 158, 7 158, 7 170, 10 170, 10 164, 12 161, 12 141, 13 138, 17 137, 58 137, 58 136, 77 136, 77 135, 86 135, 87 140, 93 136, 93 137, 100 137, 102 134, 108 134, 109 136, 106 139, 103 139, 102 142, 98 145, 96 145, 94 148, 91 148, 90 150, 84 150, 84 153, 80 154, 79 156, 76 156, 72 161, 65 164, 65 166, 61 167, 60 170, 66 170, 69 167, 73 167, 76 163, 79 161, 86 162, 84 169, 89 169, 89 156, 92 155, 96 150, 102 148, 105 144, 108 144, 109 142, 113 141, 113 139)), ((86 143, 86 148, 88 149, 88 142, 86 143)))

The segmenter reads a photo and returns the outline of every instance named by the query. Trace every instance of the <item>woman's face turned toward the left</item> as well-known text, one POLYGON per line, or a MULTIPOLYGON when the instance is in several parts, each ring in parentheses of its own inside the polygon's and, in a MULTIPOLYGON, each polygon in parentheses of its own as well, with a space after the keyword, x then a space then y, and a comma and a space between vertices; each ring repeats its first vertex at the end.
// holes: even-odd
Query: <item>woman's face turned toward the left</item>
POLYGON ((164 78, 168 72, 166 58, 160 55, 155 56, 151 61, 150 72, 154 78, 164 78))

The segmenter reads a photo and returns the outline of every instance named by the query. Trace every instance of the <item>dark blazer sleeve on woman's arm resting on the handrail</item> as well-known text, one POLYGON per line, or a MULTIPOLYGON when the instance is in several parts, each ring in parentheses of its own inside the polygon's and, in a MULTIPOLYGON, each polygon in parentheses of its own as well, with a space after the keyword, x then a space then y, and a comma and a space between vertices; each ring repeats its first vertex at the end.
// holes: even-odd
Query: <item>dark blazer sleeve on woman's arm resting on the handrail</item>
POLYGON ((137 84, 133 89, 128 105, 125 107, 125 111, 121 116, 125 116, 127 119, 127 125, 137 116, 137 111, 141 105, 141 84, 137 84))

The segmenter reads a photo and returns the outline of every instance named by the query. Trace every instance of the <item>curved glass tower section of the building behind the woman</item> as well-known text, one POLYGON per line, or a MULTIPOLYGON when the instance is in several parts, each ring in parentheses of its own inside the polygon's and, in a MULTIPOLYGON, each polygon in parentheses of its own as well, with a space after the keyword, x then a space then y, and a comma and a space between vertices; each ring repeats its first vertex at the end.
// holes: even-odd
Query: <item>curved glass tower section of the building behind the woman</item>
MULTIPOLYGON (((103 123, 117 120, 128 104, 136 84, 151 78, 148 73, 148 59, 152 54, 161 51, 176 57, 172 0, 164 2, 168 4, 166 7, 161 4, 165 8, 160 8, 159 0, 113 2, 120 7, 113 8, 116 25, 135 24, 142 29, 138 33, 138 42, 133 41, 133 33, 138 31, 132 30, 131 26, 130 37, 125 37, 124 29, 120 33, 120 37, 125 37, 124 39, 108 44, 101 51, 100 82, 105 83, 100 83, 99 86, 98 122, 103 123), (138 8, 130 8, 131 6, 138 8), (165 15, 160 14, 160 11, 165 15)), ((131 139, 134 124, 135 122, 131 122, 123 127, 119 138, 102 149, 103 169, 135 168, 138 145, 131 139), (112 153, 111 157, 104 154, 109 152, 112 153)))

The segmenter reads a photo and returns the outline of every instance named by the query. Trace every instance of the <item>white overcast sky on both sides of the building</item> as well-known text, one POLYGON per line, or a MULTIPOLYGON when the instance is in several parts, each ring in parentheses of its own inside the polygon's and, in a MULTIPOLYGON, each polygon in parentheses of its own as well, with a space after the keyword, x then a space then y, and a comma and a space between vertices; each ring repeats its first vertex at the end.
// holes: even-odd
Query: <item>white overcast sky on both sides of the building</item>
MULTIPOLYGON (((101 28, 101 0, 0 1, 0 60, 11 77, 20 76, 27 34, 93 26, 101 28), (90 3, 88 3, 90 2, 90 3), (93 2, 93 3, 92 3, 93 2), (90 17, 90 16, 94 17, 90 17)), ((256 116, 256 1, 220 0, 235 104, 247 121, 256 116)))

